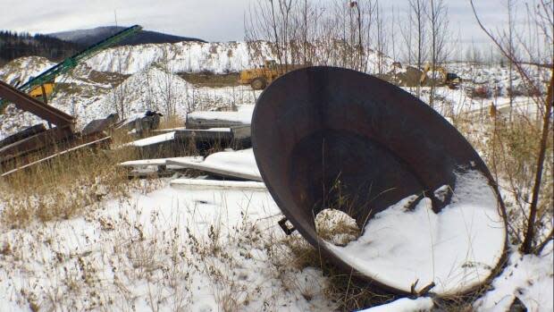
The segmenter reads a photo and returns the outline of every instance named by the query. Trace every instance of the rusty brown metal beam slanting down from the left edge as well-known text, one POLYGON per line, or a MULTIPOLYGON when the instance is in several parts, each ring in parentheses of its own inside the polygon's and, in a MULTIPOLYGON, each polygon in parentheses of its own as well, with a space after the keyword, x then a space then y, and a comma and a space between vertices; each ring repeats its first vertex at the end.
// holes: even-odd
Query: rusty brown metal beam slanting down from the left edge
POLYGON ((58 127, 69 127, 72 131, 75 126, 75 119, 70 114, 65 114, 53 106, 46 105, 36 98, 29 97, 29 95, 13 88, 2 80, 0 80, 0 98, 13 102, 21 110, 36 114, 38 117, 58 127))

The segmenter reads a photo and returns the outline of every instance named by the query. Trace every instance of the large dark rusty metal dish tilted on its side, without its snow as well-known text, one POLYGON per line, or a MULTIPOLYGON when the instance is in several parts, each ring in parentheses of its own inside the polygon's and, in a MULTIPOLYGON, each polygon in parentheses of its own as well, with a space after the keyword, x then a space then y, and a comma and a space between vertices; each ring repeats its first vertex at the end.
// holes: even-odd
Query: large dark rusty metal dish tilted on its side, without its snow
POLYGON ((466 139, 416 97, 362 72, 309 67, 283 75, 257 100, 252 140, 264 182, 290 223, 323 257, 384 291, 409 293, 360 274, 326 248, 317 213, 348 198, 340 209, 363 228, 413 194, 431 198, 439 213, 450 198, 432 190, 456 185, 457 169, 471 167, 488 179, 505 218, 491 173, 466 139))

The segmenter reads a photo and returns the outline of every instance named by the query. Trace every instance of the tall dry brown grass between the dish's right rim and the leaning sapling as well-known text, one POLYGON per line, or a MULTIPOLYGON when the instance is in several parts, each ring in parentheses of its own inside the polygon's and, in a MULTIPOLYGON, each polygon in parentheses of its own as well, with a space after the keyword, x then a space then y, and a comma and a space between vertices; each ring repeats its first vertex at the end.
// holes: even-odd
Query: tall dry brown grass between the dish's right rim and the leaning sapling
MULTIPOLYGON (((495 115, 466 114, 455 119, 458 131, 480 151, 483 160, 499 183, 508 213, 508 231, 512 243, 523 241, 528 207, 531 203, 541 123, 529 114, 512 111, 495 115)), ((544 173, 537 212, 537 230, 541 236, 550 230, 553 215, 554 155, 552 131, 548 139, 544 173)), ((539 238, 541 240, 541 238, 539 238)), ((539 242, 539 241, 537 241, 539 242)))

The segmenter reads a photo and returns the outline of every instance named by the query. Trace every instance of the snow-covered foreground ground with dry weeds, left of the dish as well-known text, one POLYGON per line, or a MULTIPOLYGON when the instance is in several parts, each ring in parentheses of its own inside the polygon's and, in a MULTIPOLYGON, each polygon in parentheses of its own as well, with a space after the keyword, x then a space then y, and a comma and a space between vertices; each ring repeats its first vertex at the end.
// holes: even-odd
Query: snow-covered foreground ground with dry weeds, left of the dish
POLYGON ((332 309, 319 270, 270 252, 279 216, 267 191, 162 181, 82 217, 3 226, 0 310, 332 309))

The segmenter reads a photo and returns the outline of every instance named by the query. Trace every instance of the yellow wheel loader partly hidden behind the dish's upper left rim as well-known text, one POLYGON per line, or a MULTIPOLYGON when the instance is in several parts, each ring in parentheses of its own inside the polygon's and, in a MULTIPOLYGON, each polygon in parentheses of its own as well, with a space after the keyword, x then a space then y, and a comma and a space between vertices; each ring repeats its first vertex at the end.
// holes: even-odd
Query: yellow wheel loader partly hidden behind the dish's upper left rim
POLYGON ((299 68, 304 68, 303 64, 278 64, 275 61, 265 61, 259 68, 240 71, 239 83, 250 85, 252 89, 261 90, 267 87, 273 80, 283 73, 290 72, 299 68))

